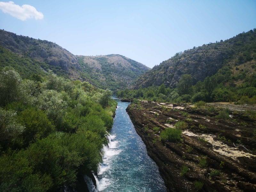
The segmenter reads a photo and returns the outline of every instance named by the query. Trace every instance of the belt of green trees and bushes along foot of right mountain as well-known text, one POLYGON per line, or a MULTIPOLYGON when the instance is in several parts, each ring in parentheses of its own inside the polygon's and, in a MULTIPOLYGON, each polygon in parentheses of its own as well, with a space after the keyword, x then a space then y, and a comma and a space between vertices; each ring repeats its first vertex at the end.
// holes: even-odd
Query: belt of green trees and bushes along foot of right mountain
POLYGON ((256 73, 253 65, 236 72, 232 67, 225 66, 215 75, 207 76, 204 81, 198 81, 195 85, 192 82, 193 77, 185 74, 181 76, 174 89, 162 84, 137 90, 118 91, 117 96, 175 103, 197 101, 256 103, 256 73))

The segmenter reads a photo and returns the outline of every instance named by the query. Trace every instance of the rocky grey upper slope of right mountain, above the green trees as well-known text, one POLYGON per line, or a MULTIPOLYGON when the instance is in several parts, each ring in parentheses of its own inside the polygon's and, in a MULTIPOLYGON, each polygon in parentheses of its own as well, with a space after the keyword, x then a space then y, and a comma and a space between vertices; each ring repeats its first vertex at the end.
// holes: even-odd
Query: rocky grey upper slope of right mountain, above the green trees
POLYGON ((183 74, 191 74, 193 84, 212 76, 220 68, 241 68, 253 65, 256 60, 256 29, 241 33, 228 40, 204 44, 176 53, 152 70, 146 72, 133 85, 134 88, 165 84, 176 87, 183 74))

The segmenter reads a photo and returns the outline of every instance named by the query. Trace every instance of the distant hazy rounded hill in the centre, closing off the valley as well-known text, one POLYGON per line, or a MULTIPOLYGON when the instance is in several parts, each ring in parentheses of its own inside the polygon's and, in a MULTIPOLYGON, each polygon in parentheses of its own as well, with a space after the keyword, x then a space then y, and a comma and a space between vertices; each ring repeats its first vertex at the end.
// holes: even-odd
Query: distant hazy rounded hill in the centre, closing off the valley
POLYGON ((127 87, 149 68, 123 55, 77 56, 84 72, 98 85, 118 89, 127 87))

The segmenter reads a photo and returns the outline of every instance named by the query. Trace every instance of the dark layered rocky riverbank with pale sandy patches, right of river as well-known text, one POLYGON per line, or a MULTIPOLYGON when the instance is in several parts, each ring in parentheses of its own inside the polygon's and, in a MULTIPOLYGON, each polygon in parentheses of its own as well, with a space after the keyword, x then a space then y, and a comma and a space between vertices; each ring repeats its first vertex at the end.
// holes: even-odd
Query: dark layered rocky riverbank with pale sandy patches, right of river
POLYGON ((255 111, 147 101, 126 110, 169 191, 256 191, 255 111), (180 121, 182 139, 161 141, 180 121))

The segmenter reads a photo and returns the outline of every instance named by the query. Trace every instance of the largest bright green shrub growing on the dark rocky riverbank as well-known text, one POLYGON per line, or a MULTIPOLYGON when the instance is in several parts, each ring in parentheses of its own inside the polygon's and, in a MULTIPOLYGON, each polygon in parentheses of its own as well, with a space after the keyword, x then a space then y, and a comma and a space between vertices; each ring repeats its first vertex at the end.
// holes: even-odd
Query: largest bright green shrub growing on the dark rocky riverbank
POLYGON ((166 128, 160 133, 160 138, 165 141, 178 142, 181 140, 181 130, 170 127, 166 128))

